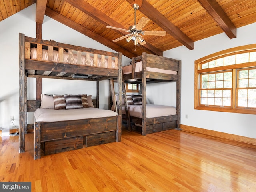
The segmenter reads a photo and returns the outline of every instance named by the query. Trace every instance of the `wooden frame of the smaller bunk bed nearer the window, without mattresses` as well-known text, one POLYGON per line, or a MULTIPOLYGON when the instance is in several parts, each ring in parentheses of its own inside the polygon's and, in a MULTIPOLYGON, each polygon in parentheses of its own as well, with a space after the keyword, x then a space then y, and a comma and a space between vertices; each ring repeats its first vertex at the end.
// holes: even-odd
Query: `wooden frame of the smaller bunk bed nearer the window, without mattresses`
POLYGON ((140 84, 140 94, 142 94, 142 118, 130 116, 132 124, 139 124, 140 126, 133 126, 139 131, 141 129, 142 135, 148 133, 168 130, 173 128, 180 128, 180 81, 181 81, 181 61, 156 56, 152 54, 142 53, 141 56, 132 58, 132 73, 123 75, 125 83, 140 84), (142 61, 142 71, 135 72, 135 63, 142 61), (164 70, 177 71, 176 75, 164 74, 158 72, 147 71, 146 68, 158 68, 164 70), (158 82, 176 82, 176 115, 146 118, 146 84, 158 82))

